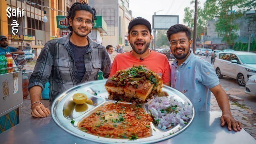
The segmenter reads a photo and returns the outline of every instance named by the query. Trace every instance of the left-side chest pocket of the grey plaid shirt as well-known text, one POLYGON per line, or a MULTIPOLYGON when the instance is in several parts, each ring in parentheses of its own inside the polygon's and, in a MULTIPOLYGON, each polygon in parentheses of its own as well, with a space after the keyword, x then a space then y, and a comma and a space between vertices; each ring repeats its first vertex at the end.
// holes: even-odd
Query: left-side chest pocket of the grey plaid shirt
POLYGON ((72 70, 70 69, 70 62, 58 61, 54 62, 56 68, 56 75, 59 80, 72 82, 72 70))

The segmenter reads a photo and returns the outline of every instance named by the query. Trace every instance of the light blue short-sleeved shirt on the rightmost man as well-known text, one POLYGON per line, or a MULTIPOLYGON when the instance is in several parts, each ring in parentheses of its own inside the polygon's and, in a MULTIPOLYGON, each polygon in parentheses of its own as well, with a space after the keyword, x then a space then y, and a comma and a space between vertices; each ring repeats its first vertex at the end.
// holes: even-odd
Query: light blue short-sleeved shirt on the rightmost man
POLYGON ((176 59, 171 64, 172 88, 185 94, 195 110, 210 111, 211 91, 220 84, 212 65, 190 52, 188 58, 180 65, 176 59))

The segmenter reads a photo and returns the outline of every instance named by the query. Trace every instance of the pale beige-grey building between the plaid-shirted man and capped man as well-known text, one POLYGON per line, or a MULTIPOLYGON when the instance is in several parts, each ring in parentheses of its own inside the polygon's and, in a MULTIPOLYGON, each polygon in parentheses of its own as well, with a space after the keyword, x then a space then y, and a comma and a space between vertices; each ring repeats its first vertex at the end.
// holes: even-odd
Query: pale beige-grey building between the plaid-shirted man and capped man
POLYGON ((128 46, 128 24, 132 20, 129 0, 90 0, 88 4, 106 21, 107 33, 102 33, 102 44, 128 46))

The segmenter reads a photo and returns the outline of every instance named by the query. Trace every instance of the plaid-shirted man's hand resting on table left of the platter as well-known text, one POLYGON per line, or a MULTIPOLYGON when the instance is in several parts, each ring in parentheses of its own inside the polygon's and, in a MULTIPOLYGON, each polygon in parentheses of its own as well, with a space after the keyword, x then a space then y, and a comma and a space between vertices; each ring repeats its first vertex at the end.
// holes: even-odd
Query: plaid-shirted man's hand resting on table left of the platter
POLYGON ((43 118, 46 116, 49 116, 50 110, 48 108, 45 108, 43 104, 35 103, 31 106, 32 109, 32 116, 36 118, 43 118))

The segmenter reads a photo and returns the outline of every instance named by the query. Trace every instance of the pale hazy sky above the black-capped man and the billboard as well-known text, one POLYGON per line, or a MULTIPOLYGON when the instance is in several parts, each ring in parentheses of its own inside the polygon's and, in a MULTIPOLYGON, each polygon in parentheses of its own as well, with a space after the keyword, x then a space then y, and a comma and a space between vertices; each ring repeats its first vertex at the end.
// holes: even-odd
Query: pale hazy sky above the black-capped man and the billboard
MULTIPOLYGON (((194 9, 194 4, 190 4, 192 0, 130 0, 130 10, 132 10, 132 17, 138 16, 147 19, 152 25, 152 15, 158 10, 156 15, 179 15, 179 24, 183 23, 184 9, 190 7, 194 9)), ((200 6, 206 0, 198 0, 200 6)))

